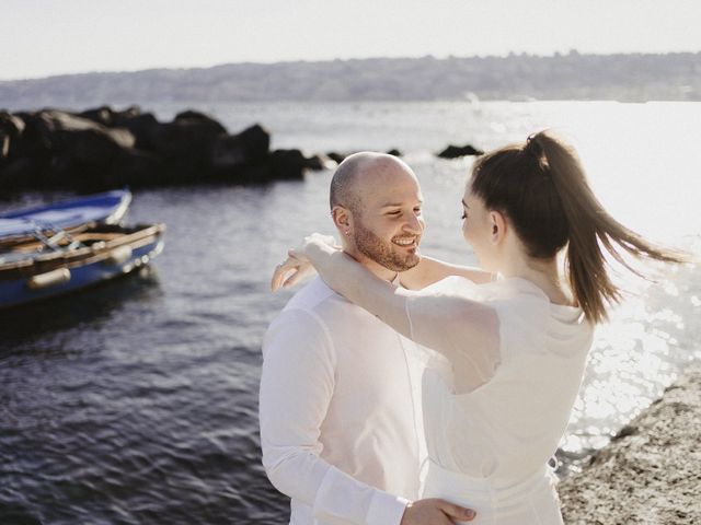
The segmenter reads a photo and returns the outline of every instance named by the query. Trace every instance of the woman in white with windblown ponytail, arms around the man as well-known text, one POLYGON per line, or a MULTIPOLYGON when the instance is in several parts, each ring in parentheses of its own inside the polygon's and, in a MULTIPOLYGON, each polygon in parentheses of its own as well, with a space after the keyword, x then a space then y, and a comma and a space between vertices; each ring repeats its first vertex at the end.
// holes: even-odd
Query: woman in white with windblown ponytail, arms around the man
MULTIPOLYGON (((499 276, 493 282, 450 277, 412 292, 312 235, 278 267, 274 288, 310 262, 332 289, 430 349, 424 497, 474 509, 471 523, 561 524, 548 460, 565 431, 593 326, 620 300, 602 248, 629 269, 624 253, 680 258, 613 220, 574 150, 549 131, 480 158, 462 207, 464 238, 483 269, 499 276)), ((425 277, 435 264, 422 260, 406 278, 425 277)))

